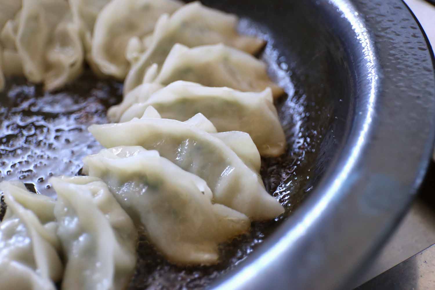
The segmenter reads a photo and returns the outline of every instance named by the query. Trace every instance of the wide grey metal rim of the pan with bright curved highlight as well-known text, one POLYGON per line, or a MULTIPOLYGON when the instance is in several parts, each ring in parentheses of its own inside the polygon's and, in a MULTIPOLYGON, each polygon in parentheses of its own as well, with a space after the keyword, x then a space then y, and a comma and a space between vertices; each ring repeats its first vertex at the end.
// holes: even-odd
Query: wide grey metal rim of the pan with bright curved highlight
POLYGON ((433 63, 422 33, 406 27, 415 22, 405 5, 313 2, 327 15, 330 29, 340 33, 348 57, 353 85, 348 97, 355 107, 348 114, 345 141, 302 207, 214 289, 344 287, 391 232, 428 165, 434 136, 433 63), (409 43, 419 52, 406 58, 409 43), (413 64, 418 62, 429 69, 417 70, 413 64), (415 85, 422 78, 424 100, 415 85), (415 127, 425 133, 415 133, 415 127))

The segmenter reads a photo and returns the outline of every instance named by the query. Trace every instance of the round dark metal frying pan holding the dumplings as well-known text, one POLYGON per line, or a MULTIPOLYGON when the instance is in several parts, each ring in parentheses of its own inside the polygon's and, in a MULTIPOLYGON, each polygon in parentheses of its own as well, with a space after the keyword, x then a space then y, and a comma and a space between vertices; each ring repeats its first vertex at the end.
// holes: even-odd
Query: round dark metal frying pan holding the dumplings
MULTIPOLYGON (((338 289, 367 265, 412 201, 434 140, 434 57, 397 0, 202 1, 268 40, 259 55, 288 96, 276 103, 288 140, 262 160, 286 213, 221 246, 213 267, 167 263, 145 237, 131 289, 338 289)), ((86 72, 56 93, 21 78, 2 93, 1 178, 54 195, 47 177, 80 174, 100 149, 122 84, 86 72)))

